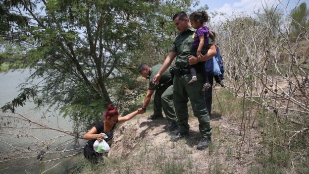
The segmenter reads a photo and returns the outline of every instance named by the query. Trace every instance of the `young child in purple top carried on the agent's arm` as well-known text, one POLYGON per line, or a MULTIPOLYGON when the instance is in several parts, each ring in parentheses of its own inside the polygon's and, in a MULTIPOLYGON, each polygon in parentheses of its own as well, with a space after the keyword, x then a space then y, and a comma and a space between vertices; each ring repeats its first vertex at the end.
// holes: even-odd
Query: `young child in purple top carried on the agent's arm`
POLYGON ((208 21, 208 15, 206 11, 195 11, 190 15, 190 22, 194 29, 196 30, 194 41, 192 44, 193 56, 197 57, 199 62, 195 65, 190 65, 190 73, 192 79, 188 82, 188 85, 192 85, 197 82, 196 68, 200 70, 203 78, 204 85, 202 92, 207 91, 211 88, 211 85, 208 83, 207 73, 205 70, 205 62, 200 62, 200 59, 207 53, 208 37, 214 41, 213 34, 209 31, 207 26, 204 26, 204 23, 208 21))

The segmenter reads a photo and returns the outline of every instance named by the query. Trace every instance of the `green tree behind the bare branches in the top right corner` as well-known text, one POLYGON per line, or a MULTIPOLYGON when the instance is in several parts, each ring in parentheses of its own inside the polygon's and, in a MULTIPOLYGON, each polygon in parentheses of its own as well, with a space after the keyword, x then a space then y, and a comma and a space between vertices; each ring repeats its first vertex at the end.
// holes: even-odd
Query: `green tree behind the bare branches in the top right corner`
POLYGON ((298 7, 291 11, 292 20, 292 34, 294 37, 302 35, 309 27, 309 8, 306 2, 301 3, 298 7))

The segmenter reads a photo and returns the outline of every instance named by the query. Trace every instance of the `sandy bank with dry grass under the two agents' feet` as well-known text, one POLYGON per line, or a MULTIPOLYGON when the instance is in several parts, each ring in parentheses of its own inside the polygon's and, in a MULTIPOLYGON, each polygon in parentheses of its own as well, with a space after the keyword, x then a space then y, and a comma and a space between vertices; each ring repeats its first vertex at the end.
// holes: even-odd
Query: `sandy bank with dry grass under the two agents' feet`
MULTIPOLYGON (((237 99, 219 88, 213 93, 211 116, 212 143, 203 151, 196 146, 201 138, 198 120, 190 116, 190 136, 178 142, 170 141, 175 132, 164 130, 166 119, 147 120, 137 117, 120 125, 115 131, 113 145, 103 163, 91 165, 83 160, 82 174, 281 174, 308 173, 308 137, 298 151, 280 148, 270 140, 280 141, 271 129, 263 137, 258 122, 248 128, 242 122, 242 106, 248 101, 237 99), (302 158, 297 158, 301 154, 302 158), (293 162, 293 164, 292 164, 293 162), (307 162, 307 163, 306 163, 307 162)), ((257 112, 255 112, 257 113, 257 112)), ((246 112, 248 114, 248 112, 246 112)), ((252 114, 252 118, 258 114, 252 114)), ((260 117, 260 116, 259 116, 260 117)), ((256 118, 259 120, 259 118, 256 118)), ((267 116, 267 120, 271 119, 267 116)), ((253 119, 252 119, 253 120, 253 119)), ((250 125, 252 122, 250 122, 250 125)))

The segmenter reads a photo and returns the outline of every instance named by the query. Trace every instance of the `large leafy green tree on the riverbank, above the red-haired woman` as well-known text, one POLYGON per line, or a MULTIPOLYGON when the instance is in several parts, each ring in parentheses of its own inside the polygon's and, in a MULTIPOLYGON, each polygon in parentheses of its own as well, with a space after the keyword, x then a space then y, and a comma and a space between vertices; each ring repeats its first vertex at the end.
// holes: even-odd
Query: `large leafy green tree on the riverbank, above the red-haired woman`
POLYGON ((125 98, 123 89, 138 87, 141 61, 162 62, 176 32, 172 15, 190 11, 197 0, 20 0, 9 12, 27 18, 27 25, 8 23, 1 37, 12 33, 23 48, 20 57, 41 84, 22 88, 11 110, 33 98, 38 106, 56 106, 64 116, 92 119, 108 103, 125 98), (30 22, 29 22, 30 21, 30 22), (143 60, 141 60, 143 59, 143 60), (35 66, 44 61, 43 66, 35 66))

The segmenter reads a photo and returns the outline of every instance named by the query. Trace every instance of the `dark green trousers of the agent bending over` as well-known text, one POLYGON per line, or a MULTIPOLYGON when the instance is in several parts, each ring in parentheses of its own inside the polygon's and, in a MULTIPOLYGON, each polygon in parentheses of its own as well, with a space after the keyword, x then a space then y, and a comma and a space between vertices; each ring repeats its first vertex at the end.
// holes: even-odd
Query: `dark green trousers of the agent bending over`
POLYGON ((154 115, 163 112, 170 123, 177 123, 177 116, 173 103, 173 85, 161 87, 155 90, 154 94, 154 115))

